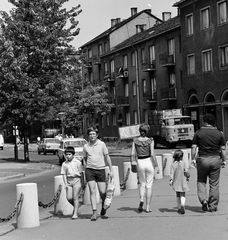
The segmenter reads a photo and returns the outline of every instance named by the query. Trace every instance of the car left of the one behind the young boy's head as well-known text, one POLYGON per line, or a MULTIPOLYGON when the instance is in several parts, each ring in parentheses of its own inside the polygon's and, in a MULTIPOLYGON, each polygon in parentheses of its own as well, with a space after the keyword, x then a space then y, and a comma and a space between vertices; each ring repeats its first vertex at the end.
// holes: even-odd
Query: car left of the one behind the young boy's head
POLYGON ((57 138, 43 138, 43 140, 38 143, 38 154, 43 153, 53 153, 56 154, 58 152, 60 146, 60 141, 57 138))

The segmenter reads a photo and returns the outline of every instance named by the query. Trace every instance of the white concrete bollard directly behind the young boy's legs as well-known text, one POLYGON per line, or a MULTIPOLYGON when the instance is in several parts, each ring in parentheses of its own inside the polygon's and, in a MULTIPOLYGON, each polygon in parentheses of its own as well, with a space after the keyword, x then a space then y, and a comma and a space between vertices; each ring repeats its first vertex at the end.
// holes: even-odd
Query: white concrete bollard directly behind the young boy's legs
POLYGON ((55 176, 54 177, 55 193, 57 192, 60 184, 62 184, 62 190, 61 190, 59 199, 55 202, 54 214, 55 215, 60 214, 60 215, 63 215, 63 216, 72 215, 74 207, 67 200, 67 193, 66 193, 66 189, 64 187, 63 177, 62 177, 62 175, 55 176))

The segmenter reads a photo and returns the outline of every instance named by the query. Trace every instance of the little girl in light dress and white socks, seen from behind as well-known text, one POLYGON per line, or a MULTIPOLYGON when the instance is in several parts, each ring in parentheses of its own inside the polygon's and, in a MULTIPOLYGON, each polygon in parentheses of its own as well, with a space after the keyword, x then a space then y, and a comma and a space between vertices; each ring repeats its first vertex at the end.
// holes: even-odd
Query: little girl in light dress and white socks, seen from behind
POLYGON ((186 163, 183 161, 183 155, 184 153, 180 149, 174 152, 174 161, 170 168, 169 180, 170 186, 172 186, 176 192, 177 212, 181 214, 185 214, 185 192, 189 191, 187 182, 190 177, 186 163))

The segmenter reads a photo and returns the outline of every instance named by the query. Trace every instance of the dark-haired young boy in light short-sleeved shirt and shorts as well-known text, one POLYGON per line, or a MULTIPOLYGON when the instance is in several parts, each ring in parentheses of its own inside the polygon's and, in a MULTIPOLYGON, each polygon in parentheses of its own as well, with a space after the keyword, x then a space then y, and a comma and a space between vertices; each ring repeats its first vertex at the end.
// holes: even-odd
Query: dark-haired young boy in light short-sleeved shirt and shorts
POLYGON ((64 154, 66 161, 63 162, 61 166, 61 175, 63 176, 63 182, 65 184, 66 191, 68 191, 69 188, 72 188, 74 210, 71 218, 75 220, 78 218, 79 194, 81 187, 83 187, 81 184, 83 168, 81 161, 74 157, 74 147, 66 147, 64 154))

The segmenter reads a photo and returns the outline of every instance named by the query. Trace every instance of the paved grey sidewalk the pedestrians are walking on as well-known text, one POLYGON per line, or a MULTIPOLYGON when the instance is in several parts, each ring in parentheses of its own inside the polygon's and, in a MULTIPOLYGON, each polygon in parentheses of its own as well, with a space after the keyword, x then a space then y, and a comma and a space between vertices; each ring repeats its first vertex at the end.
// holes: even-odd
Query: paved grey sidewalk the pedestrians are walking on
MULTIPOLYGON (((116 152, 110 151, 111 154, 116 152)), ((128 154, 128 149, 116 154, 128 154)), ((196 194, 196 169, 191 169, 190 192, 186 194, 186 213, 180 215, 175 208, 175 193, 169 186, 169 177, 155 180, 153 187, 152 213, 138 213, 138 189, 125 190, 115 196, 107 211, 107 218, 100 217, 91 222, 91 206, 82 205, 79 219, 70 216, 53 216, 53 208, 40 215, 40 226, 29 229, 15 229, 16 222, 3 233, 1 240, 139 240, 139 239, 202 239, 220 240, 228 238, 228 168, 222 169, 220 203, 217 212, 202 212, 196 194), (11 231, 11 232, 9 232, 11 231)), ((100 204, 98 205, 98 213, 100 204)), ((16 221, 16 220, 15 220, 16 221)))

